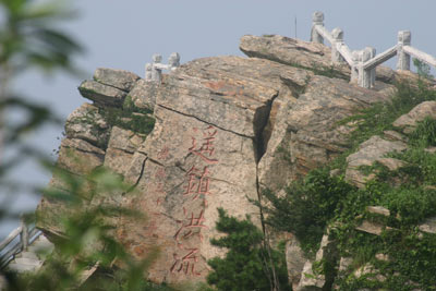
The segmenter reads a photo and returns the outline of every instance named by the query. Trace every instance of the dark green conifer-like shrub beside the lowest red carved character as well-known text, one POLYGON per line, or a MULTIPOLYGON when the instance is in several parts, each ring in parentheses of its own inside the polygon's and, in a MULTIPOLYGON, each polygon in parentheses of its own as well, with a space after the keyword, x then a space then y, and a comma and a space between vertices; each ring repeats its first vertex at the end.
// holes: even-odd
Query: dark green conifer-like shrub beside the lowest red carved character
POLYGON ((217 230, 227 235, 211 240, 211 244, 228 248, 225 258, 213 258, 208 262, 214 269, 207 277, 207 282, 222 291, 240 290, 271 290, 274 262, 279 290, 289 290, 288 274, 283 254, 268 250, 264 244, 262 231, 254 226, 250 218, 238 220, 229 217, 219 208, 217 230))

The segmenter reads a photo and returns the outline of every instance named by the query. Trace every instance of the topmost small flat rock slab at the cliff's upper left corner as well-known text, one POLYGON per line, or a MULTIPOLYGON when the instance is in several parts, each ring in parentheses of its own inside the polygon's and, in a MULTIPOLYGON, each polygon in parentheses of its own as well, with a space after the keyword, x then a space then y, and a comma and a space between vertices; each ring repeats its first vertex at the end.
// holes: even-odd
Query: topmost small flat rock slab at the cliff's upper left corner
POLYGON ((140 78, 138 75, 124 70, 99 68, 94 73, 94 81, 124 92, 130 92, 140 78))

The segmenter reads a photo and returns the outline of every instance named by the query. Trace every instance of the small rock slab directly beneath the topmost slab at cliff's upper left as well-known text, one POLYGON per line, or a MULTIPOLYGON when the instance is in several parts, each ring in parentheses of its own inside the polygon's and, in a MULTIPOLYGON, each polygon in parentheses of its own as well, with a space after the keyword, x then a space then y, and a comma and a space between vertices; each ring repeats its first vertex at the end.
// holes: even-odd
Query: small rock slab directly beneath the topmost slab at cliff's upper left
POLYGON ((78 92, 83 97, 93 100, 99 107, 120 107, 128 95, 123 90, 96 81, 84 81, 78 86, 78 92))

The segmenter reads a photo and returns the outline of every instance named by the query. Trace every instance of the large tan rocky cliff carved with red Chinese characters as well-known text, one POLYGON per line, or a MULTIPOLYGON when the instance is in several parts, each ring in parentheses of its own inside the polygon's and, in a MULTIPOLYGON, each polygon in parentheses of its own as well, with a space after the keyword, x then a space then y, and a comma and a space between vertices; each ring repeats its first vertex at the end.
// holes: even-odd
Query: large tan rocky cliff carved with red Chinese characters
MULTIPOLYGON (((249 58, 197 59, 159 84, 98 69, 78 88, 93 102, 66 120, 58 165, 75 175, 105 166, 134 185, 134 194, 85 193, 83 209, 107 204, 147 216, 144 223, 116 218, 113 235, 137 258, 159 246, 148 270, 154 281, 204 281, 207 259, 223 252, 209 242, 220 235, 215 229, 218 207, 238 218, 251 215, 262 228, 263 214, 250 201, 265 203, 263 189, 280 192, 349 149, 353 126, 339 122, 388 101, 391 84, 411 77, 380 68, 376 88, 370 90, 350 84, 349 68, 331 66, 330 49, 319 44, 244 36, 240 49, 249 58)), ((367 165, 362 157, 374 143, 403 147, 401 141, 362 145, 360 156, 349 157, 354 168, 347 172, 356 185, 364 181, 353 169, 367 165)), ((64 187, 56 175, 50 185, 64 187)), ((60 221, 70 209, 62 202, 46 196, 37 211, 43 231, 63 235, 60 221)), ((295 259, 300 255, 292 254, 295 259)), ((305 262, 300 260, 296 268, 290 264, 290 276, 300 274, 292 277, 294 287, 305 262)))

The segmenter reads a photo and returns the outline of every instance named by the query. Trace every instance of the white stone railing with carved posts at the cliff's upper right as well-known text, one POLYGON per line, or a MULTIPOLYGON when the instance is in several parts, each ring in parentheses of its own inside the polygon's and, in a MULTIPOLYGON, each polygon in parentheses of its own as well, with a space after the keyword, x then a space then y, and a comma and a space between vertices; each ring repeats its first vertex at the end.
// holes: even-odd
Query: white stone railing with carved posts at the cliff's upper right
POLYGON ((435 57, 411 46, 412 35, 409 31, 399 32, 397 45, 376 54, 373 47, 350 50, 343 43, 342 29, 335 28, 330 33, 324 27, 323 12, 315 12, 312 21, 311 41, 324 44, 324 39, 327 39, 331 44, 331 62, 334 64, 347 62, 351 66, 351 82, 355 82, 362 87, 374 87, 375 68, 395 56, 398 56, 397 70, 410 70, 411 56, 436 66, 435 57))

